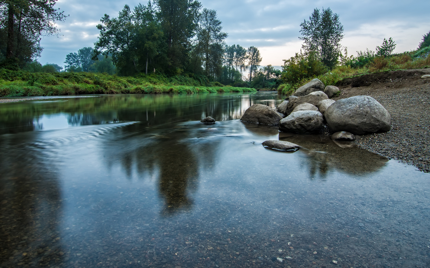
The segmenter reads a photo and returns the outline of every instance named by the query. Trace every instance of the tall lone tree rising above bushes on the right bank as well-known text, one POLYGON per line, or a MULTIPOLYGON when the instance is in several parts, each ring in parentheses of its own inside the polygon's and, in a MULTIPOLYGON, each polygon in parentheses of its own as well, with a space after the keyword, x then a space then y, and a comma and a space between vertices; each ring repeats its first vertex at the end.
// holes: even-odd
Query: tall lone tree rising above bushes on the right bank
POLYGON ((333 13, 330 8, 314 9, 309 17, 309 21, 304 20, 301 24, 302 37, 304 41, 302 47, 307 53, 316 52, 316 57, 329 69, 338 63, 341 52, 341 40, 344 35, 339 15, 333 13))

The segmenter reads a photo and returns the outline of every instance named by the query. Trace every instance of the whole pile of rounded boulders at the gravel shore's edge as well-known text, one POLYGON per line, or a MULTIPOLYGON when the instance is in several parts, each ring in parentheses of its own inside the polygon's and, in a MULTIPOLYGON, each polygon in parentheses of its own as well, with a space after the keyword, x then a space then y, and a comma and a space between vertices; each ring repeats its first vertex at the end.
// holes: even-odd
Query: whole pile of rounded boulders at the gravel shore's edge
POLYGON ((280 131, 295 134, 318 133, 326 122, 333 132, 338 132, 333 139, 339 141, 352 141, 355 139, 353 134, 390 130, 390 114, 375 99, 370 96, 353 96, 338 101, 330 99, 338 93, 338 87, 325 87, 321 81, 313 79, 276 108, 252 105, 241 120, 279 125, 280 131))

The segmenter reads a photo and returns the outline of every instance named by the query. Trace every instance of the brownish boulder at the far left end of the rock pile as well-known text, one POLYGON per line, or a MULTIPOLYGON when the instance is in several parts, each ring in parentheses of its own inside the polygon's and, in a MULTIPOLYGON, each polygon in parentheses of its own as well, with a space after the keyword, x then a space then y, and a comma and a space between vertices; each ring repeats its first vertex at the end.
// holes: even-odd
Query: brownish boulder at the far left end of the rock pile
POLYGON ((276 112, 267 105, 258 103, 246 109, 240 120, 250 123, 277 126, 279 124, 279 120, 282 118, 283 114, 276 112))

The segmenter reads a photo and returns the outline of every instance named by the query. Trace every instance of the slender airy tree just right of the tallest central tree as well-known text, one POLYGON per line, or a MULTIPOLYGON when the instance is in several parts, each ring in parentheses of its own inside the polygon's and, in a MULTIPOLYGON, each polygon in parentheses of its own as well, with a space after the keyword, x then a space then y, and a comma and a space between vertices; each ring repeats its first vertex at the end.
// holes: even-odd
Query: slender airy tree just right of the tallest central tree
POLYGON ((216 11, 213 9, 203 9, 197 39, 199 40, 199 45, 202 47, 202 53, 205 56, 206 75, 210 74, 210 67, 212 67, 212 73, 214 73, 215 65, 219 65, 219 59, 222 58, 222 54, 224 53, 222 49, 224 46, 224 39, 226 39, 227 36, 227 33, 222 32, 221 21, 218 20, 216 11), (211 62, 211 59, 214 61, 211 62))

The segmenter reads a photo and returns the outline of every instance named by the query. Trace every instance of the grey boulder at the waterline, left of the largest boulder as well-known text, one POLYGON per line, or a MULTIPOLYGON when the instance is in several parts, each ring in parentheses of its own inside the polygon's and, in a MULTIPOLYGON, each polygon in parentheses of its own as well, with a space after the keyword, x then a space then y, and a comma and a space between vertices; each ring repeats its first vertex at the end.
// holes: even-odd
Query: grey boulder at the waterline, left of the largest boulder
POLYGON ((295 111, 279 121, 279 130, 295 134, 313 134, 322 128, 319 111, 295 111))

